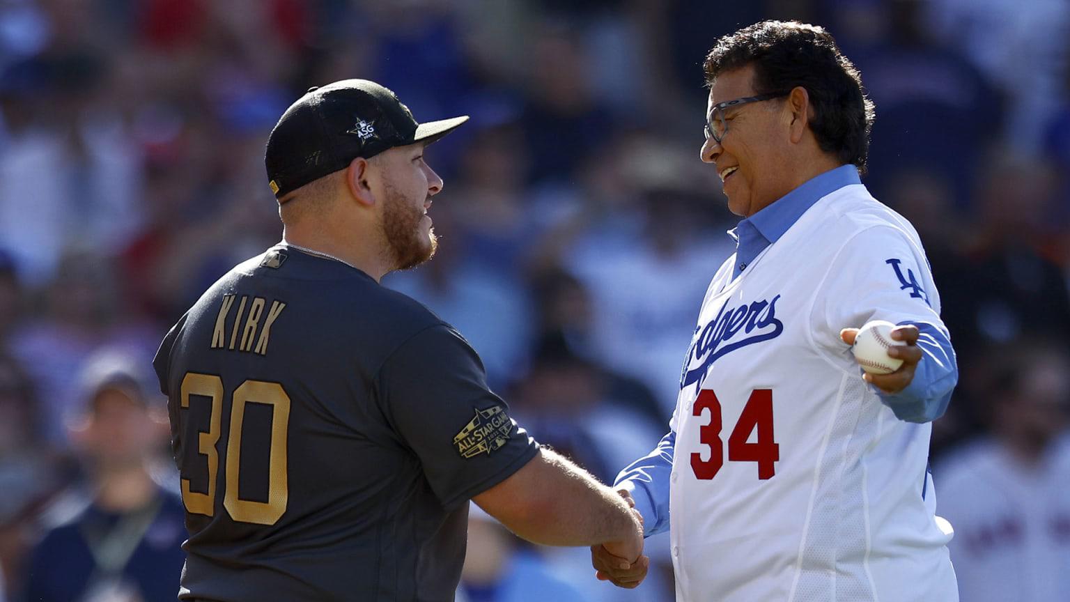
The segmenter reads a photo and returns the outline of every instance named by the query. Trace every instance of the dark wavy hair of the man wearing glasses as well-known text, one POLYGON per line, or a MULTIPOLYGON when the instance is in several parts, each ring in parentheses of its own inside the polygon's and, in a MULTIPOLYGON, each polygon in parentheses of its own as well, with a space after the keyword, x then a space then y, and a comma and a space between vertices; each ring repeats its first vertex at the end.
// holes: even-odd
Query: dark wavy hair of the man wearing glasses
POLYGON ((866 172, 873 103, 861 76, 823 28, 798 21, 762 21, 722 36, 703 70, 706 84, 721 73, 754 65, 754 93, 806 88, 813 107, 810 129, 825 152, 866 172))

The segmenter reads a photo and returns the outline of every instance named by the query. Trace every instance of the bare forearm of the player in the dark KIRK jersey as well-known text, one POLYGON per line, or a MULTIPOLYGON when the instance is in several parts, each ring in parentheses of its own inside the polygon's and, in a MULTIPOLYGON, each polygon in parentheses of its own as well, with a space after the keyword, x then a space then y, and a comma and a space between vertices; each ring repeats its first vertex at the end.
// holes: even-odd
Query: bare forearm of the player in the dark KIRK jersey
POLYGON ((597 545, 624 541, 640 529, 616 492, 545 448, 503 485, 507 491, 494 487, 476 496, 476 503, 534 543, 597 545), (508 483, 515 479, 524 481, 523 486, 508 483))

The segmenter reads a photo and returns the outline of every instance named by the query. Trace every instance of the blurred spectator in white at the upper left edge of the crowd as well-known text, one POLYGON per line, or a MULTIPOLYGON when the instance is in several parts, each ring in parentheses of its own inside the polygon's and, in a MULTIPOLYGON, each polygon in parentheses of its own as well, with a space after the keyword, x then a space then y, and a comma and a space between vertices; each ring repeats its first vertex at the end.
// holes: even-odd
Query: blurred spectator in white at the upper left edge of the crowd
POLYGON ((139 152, 113 102, 113 65, 83 33, 95 19, 73 28, 86 3, 46 4, 72 14, 54 14, 49 45, 0 74, 0 240, 31 285, 52 275, 67 247, 116 253, 140 224, 139 152))

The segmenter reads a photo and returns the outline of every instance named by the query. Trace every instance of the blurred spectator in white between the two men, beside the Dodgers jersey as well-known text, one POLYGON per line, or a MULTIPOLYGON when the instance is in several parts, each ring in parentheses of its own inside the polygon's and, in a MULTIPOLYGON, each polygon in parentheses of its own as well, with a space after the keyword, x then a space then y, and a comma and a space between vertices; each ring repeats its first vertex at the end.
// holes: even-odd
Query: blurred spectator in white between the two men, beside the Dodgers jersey
POLYGON ((709 198, 718 190, 708 180, 714 170, 675 147, 648 142, 630 150, 636 212, 592 220, 563 262, 591 292, 599 360, 645 382, 668 416, 694 306, 733 240, 719 224, 728 220, 725 205, 709 198))

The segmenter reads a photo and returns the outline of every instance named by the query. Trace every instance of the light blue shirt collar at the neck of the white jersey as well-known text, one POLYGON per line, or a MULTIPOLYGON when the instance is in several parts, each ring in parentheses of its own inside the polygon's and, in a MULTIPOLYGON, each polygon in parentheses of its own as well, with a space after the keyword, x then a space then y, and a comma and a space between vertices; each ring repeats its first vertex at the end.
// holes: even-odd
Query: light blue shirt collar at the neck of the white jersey
POLYGON ((807 180, 758 213, 740 221, 735 229, 729 230, 729 235, 736 239, 736 261, 732 267, 732 277, 738 276, 766 246, 777 242, 822 197, 843 186, 860 183, 857 167, 841 165, 807 180))

